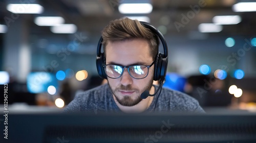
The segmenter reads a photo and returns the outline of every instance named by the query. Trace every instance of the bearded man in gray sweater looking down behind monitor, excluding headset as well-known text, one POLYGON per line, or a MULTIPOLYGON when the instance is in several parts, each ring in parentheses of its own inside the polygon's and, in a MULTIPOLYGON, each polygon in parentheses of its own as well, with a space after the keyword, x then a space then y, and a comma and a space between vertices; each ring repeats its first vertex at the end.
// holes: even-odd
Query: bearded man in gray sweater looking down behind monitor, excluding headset
POLYGON ((178 91, 163 88, 141 98, 144 91, 152 95, 158 88, 153 79, 159 40, 138 20, 111 21, 102 38, 108 84, 76 96, 64 112, 204 112, 197 100, 178 91))

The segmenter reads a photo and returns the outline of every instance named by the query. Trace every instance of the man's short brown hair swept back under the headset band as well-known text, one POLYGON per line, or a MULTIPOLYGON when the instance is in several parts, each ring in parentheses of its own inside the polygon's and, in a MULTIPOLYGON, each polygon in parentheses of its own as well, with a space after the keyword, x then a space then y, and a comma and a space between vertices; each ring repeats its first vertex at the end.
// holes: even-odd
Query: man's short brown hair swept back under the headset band
MULTIPOLYGON (((158 53, 159 39, 150 29, 141 25, 138 20, 122 18, 110 21, 110 23, 102 31, 103 48, 108 42, 123 41, 135 38, 141 38, 148 41, 150 53, 153 59, 158 53)), ((105 53, 105 52, 104 52, 105 53)))

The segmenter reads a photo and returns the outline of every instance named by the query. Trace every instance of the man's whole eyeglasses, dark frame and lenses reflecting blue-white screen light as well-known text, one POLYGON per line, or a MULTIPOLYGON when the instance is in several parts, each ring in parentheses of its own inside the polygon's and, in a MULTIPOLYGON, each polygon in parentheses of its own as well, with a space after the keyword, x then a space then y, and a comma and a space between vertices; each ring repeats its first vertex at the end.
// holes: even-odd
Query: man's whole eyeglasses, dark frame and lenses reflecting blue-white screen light
POLYGON ((122 76, 124 68, 127 68, 128 73, 135 79, 142 79, 148 75, 148 70, 154 65, 155 61, 149 66, 134 65, 134 66, 119 66, 119 65, 105 65, 103 64, 106 76, 110 78, 119 78, 122 76))

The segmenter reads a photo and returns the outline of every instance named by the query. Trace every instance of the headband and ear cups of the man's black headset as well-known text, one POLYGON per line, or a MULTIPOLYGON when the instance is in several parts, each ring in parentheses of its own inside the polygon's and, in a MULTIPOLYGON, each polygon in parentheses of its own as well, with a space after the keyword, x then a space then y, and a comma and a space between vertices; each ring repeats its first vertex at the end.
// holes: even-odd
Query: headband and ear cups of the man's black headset
MULTIPOLYGON (((167 71, 167 64, 168 64, 168 47, 167 47, 166 41, 165 41, 163 35, 160 33, 160 31, 157 30, 157 28, 155 28, 154 26, 150 25, 147 22, 140 21, 140 23, 144 27, 150 29, 161 40, 164 53, 158 52, 158 54, 156 56, 155 69, 154 69, 154 80, 160 80, 160 82, 164 82, 166 71, 167 71)), ((103 41, 103 38, 100 37, 99 42, 98 42, 98 47, 97 47, 96 66, 97 66, 97 71, 98 71, 99 76, 101 78, 106 79, 107 76, 106 76, 105 70, 103 68, 103 64, 105 63, 105 56, 104 56, 104 52, 101 53, 102 41, 103 41)))

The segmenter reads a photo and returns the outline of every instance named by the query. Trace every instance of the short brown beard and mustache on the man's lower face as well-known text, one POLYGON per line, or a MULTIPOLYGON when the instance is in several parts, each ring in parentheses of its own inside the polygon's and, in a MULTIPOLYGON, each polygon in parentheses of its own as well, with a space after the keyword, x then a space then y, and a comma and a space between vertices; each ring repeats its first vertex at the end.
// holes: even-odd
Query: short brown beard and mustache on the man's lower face
POLYGON ((142 98, 140 97, 141 93, 144 92, 144 91, 150 91, 152 85, 153 85, 153 77, 152 77, 152 81, 151 83, 148 83, 146 85, 146 87, 144 87, 141 91, 137 88, 133 88, 132 85, 122 85, 120 84, 118 87, 114 88, 114 87, 111 87, 111 85, 109 84, 110 86, 110 89, 111 89, 111 92, 112 94, 116 97, 116 100, 117 102, 122 105, 122 106, 134 106, 134 105, 137 105, 141 100, 142 98), (125 96, 118 96, 118 91, 134 91, 136 95, 135 99, 133 99, 131 96, 128 96, 128 95, 125 95, 125 96))

